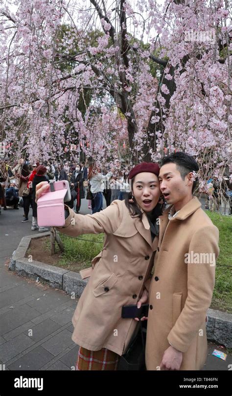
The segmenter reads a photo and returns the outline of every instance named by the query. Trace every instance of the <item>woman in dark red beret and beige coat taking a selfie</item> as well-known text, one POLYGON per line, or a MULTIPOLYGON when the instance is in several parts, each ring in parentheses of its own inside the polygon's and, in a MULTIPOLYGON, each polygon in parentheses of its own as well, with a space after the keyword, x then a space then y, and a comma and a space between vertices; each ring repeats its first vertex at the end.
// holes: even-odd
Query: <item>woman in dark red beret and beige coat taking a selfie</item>
MULTIPOLYGON (((122 318, 123 305, 148 302, 154 254, 158 246, 159 165, 143 162, 130 174, 131 192, 126 200, 115 200, 103 211, 75 214, 65 205, 69 236, 105 233, 102 251, 92 267, 80 271, 89 278, 72 317, 72 340, 80 346, 76 370, 116 370, 138 321, 122 318)), ((36 200, 48 185, 36 187, 36 200)), ((144 319, 144 317, 143 317, 144 319)))

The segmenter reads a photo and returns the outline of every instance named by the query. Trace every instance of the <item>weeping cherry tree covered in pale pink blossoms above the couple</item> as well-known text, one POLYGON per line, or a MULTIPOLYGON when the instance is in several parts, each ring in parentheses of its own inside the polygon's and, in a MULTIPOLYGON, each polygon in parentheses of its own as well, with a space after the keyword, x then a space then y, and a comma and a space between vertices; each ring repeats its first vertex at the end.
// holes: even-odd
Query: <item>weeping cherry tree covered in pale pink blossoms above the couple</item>
POLYGON ((230 17, 227 0, 0 0, 2 141, 31 160, 183 150, 204 190, 230 166, 230 17))

